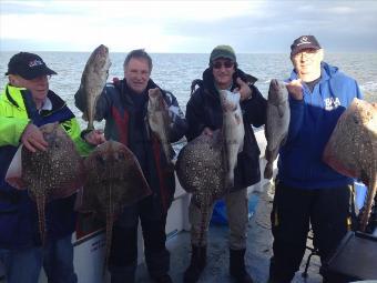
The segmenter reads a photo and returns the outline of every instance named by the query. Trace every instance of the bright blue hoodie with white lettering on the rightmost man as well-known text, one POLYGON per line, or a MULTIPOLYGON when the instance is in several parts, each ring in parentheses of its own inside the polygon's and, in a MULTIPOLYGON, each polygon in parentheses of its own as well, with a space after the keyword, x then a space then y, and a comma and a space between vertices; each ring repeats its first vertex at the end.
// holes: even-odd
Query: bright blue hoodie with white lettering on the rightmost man
MULTIPOLYGON (((354 181, 325 164, 322 155, 338 118, 361 93, 357 82, 338 68, 325 62, 320 68, 320 81, 313 92, 304 84, 304 99, 289 99, 288 139, 278 159, 278 179, 287 186, 329 189, 354 181)), ((288 81, 295 79, 297 73, 293 71, 288 81)))

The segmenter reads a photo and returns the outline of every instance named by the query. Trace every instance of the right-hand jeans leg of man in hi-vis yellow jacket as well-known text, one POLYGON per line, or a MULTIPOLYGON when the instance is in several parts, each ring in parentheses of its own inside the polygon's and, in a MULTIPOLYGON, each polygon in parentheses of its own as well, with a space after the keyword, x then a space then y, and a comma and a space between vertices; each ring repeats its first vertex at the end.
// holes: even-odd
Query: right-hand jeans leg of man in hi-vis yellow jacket
POLYGON ((77 283, 73 269, 72 235, 48 241, 43 251, 43 269, 49 283, 77 283))

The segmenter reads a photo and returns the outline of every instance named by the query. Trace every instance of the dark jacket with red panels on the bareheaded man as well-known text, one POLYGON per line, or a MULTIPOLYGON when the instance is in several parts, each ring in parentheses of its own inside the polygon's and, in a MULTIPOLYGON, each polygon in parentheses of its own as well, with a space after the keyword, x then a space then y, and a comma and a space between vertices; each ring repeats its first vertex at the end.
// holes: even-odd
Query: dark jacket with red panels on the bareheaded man
MULTIPOLYGON (((174 171, 163 154, 160 141, 150 134, 147 129, 147 91, 159 88, 152 80, 141 94, 133 93, 125 80, 114 80, 108 83, 96 102, 95 120, 105 119, 104 134, 108 140, 125 144, 137 158, 137 161, 147 180, 153 196, 159 200, 162 210, 167 212, 175 191, 174 171), (137 97, 137 101, 134 98, 137 97)), ((170 128, 170 142, 179 141, 187 129, 185 118, 179 108, 176 98, 161 90, 170 109, 172 125, 170 128), (176 111, 177 110, 177 111, 176 111)), ((84 109, 80 90, 75 94, 75 105, 84 109)))

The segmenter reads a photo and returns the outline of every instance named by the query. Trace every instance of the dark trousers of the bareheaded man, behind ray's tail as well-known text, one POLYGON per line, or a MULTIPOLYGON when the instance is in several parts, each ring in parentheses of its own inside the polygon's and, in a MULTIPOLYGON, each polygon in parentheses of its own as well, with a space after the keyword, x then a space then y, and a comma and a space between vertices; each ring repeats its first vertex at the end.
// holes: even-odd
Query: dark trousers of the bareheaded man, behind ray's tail
POLYGON ((161 212, 153 196, 147 196, 137 204, 125 208, 114 223, 109 259, 112 283, 129 282, 124 279, 134 277, 137 265, 139 219, 144 237, 145 263, 151 276, 159 277, 169 272, 170 253, 165 246, 166 213, 161 212))

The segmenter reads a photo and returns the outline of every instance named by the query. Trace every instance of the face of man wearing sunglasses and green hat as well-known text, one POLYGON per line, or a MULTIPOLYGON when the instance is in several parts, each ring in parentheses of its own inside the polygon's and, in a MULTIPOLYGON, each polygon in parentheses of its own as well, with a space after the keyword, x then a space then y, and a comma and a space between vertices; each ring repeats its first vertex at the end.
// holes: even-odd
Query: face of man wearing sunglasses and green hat
POLYGON ((225 90, 232 85, 234 62, 230 59, 216 59, 212 62, 212 73, 218 88, 225 90))

